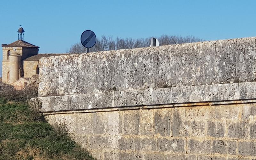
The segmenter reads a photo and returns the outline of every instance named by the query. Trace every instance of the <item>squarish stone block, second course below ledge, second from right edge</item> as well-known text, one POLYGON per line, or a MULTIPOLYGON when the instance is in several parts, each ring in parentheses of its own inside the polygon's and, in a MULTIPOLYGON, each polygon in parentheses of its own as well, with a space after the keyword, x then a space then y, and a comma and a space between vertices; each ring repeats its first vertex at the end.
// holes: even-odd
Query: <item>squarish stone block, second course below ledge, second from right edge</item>
POLYGON ((249 133, 249 123, 246 121, 227 121, 228 138, 247 139, 249 133))

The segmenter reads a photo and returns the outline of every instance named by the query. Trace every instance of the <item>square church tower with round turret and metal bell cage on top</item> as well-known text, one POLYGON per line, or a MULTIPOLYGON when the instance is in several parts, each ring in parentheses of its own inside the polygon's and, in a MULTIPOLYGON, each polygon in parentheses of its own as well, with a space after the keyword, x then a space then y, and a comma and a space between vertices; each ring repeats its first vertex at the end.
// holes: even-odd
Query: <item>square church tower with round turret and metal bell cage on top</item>
POLYGON ((2 44, 2 82, 12 84, 24 77, 23 60, 38 54, 39 47, 23 40, 24 29, 20 26, 18 40, 11 44, 2 44))

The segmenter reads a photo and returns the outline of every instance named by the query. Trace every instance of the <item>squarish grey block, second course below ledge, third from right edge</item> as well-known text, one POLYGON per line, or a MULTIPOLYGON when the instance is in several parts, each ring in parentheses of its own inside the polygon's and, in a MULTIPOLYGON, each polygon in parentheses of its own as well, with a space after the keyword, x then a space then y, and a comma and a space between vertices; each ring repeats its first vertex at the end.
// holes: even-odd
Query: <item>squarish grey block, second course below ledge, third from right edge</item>
POLYGON ((207 121, 207 132, 206 135, 214 138, 225 137, 226 121, 207 121))

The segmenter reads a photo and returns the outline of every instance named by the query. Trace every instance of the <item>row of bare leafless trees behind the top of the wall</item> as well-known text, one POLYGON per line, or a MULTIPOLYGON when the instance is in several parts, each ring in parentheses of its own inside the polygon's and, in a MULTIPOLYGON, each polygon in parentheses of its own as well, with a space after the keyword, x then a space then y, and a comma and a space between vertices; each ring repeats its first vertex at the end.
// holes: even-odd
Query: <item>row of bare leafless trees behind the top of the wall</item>
MULTIPOLYGON (((119 49, 130 49, 130 48, 141 48, 148 47, 151 44, 151 38, 119 38, 116 37, 116 40, 113 40, 112 36, 101 36, 100 39, 97 38, 96 44, 90 48, 90 52, 100 52, 100 51, 109 51, 109 50, 119 50, 119 49)), ((181 43, 193 43, 201 42, 203 39, 197 38, 195 36, 167 36, 162 35, 157 38, 160 45, 169 45, 169 44, 181 44, 181 43)), ((81 43, 76 43, 72 45, 68 53, 85 53, 86 48, 81 43)))

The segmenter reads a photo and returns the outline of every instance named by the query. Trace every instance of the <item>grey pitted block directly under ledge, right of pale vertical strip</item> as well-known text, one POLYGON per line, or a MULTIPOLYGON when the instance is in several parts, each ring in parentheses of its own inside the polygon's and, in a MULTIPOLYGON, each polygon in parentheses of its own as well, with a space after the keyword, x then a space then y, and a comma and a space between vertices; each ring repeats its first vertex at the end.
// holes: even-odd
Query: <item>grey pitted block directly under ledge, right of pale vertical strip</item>
POLYGON ((129 110, 123 112, 123 134, 139 135, 140 111, 129 110))

